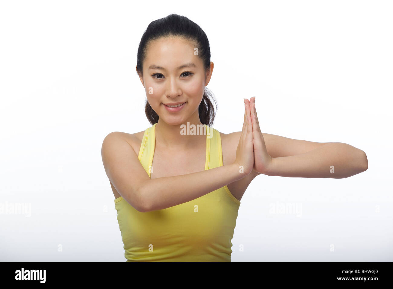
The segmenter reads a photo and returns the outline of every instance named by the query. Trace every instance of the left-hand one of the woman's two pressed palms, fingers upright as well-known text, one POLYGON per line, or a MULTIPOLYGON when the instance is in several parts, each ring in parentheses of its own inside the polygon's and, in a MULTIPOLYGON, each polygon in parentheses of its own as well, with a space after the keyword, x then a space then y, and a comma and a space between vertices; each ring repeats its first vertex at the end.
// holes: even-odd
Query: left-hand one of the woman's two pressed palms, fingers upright
POLYGON ((239 172, 244 173, 244 177, 252 172, 254 166, 254 145, 252 120, 250 114, 250 101, 244 99, 244 120, 242 134, 239 145, 236 149, 235 164, 239 166, 239 172))

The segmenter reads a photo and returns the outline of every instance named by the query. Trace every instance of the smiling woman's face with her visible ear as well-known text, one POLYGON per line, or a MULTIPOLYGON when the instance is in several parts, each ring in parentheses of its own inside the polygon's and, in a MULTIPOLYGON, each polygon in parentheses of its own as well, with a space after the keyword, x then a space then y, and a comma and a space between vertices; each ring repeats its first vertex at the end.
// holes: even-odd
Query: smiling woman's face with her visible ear
POLYGON ((170 125, 199 124, 198 107, 213 72, 206 72, 195 46, 180 38, 154 40, 147 48, 141 82, 147 101, 170 125), (169 107, 178 105, 180 107, 169 107))

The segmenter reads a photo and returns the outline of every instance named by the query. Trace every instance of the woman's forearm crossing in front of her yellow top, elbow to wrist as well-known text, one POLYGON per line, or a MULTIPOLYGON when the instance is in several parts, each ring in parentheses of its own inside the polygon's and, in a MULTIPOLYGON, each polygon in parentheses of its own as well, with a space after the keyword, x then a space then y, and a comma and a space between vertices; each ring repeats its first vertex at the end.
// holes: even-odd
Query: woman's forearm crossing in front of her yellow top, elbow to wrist
POLYGON ((143 195, 145 211, 149 212, 192 201, 243 177, 238 166, 230 164, 186 175, 149 179, 138 191, 143 195))

